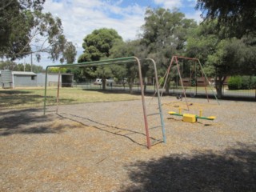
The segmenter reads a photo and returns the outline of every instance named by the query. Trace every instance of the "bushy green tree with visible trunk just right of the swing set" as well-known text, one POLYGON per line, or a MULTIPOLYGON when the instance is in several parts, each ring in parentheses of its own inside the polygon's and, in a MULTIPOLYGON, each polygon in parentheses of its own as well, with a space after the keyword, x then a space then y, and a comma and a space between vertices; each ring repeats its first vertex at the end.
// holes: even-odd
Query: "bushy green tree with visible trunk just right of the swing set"
POLYGON ((252 35, 226 38, 225 26, 217 27, 218 22, 202 23, 190 33, 187 40, 186 56, 199 58, 208 77, 215 78, 218 98, 222 97, 222 86, 230 75, 255 74, 256 50, 252 35))

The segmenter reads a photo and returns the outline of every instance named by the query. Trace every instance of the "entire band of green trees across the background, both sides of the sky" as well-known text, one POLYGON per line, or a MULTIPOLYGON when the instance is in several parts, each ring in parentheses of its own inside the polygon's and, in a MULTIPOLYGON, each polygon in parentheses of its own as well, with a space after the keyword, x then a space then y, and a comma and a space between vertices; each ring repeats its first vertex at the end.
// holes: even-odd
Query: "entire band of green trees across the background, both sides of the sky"
MULTIPOLYGON (((53 61, 74 62, 75 46, 66 40, 60 18, 42 13, 44 2, 0 2, 0 58, 14 61, 33 53, 40 60, 40 54, 47 53, 53 61)), ((137 39, 126 42, 114 29, 96 29, 83 38, 84 51, 79 55, 78 62, 128 56, 153 58, 161 78, 173 55, 199 58, 206 75, 214 78, 218 98, 221 98, 227 77, 240 75, 250 78, 256 74, 256 1, 198 0, 195 8, 202 10, 203 22, 200 24, 186 18, 177 9, 148 8, 142 32, 137 39)), ((182 74, 189 76, 191 62, 179 62, 182 74)), ((18 66, 21 70, 22 66, 18 64, 15 67, 18 66)), ((106 78, 116 78, 119 81, 126 79, 132 90, 138 76, 134 63, 70 68, 65 72, 74 73, 77 82, 86 78, 102 78, 103 89, 106 78)), ((152 66, 142 63, 142 75, 153 77, 152 66)), ((166 91, 170 82, 175 80, 177 74, 171 74, 166 91)))

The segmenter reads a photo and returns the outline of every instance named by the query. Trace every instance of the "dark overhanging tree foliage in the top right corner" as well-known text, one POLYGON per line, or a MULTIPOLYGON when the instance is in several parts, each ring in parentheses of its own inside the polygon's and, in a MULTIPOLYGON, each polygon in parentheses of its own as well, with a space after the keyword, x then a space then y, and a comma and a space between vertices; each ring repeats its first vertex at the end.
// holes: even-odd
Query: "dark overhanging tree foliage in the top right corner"
POLYGON ((206 20, 217 18, 219 26, 227 26, 230 37, 242 38, 256 32, 254 0, 198 0, 196 9, 206 11, 206 20))

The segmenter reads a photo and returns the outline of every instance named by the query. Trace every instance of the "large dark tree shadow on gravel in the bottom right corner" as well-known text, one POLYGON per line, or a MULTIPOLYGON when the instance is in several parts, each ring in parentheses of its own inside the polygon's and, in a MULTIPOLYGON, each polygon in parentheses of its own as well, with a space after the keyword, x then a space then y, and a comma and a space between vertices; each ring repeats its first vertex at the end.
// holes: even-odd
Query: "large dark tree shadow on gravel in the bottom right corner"
POLYGON ((120 191, 256 191, 256 145, 219 154, 173 154, 127 166, 131 186, 120 191))

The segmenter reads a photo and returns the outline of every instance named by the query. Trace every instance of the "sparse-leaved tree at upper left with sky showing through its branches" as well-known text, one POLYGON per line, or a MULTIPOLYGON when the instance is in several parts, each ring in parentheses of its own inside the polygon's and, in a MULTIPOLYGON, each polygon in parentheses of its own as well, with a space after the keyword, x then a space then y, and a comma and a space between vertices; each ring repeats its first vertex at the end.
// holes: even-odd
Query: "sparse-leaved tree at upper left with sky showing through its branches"
MULTIPOLYGON (((66 60, 67 42, 60 18, 42 13, 45 0, 3 0, 0 4, 0 57, 11 60, 44 52, 56 61, 66 60)), ((75 52, 73 52, 75 54, 75 52)))

